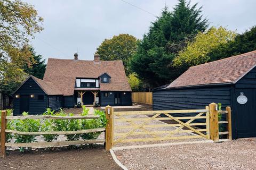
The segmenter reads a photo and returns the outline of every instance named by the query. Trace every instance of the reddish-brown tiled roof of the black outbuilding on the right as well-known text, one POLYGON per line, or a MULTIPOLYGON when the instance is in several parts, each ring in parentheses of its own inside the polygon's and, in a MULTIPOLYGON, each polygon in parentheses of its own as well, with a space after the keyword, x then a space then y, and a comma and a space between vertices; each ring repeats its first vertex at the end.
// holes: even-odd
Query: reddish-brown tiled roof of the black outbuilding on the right
POLYGON ((222 60, 190 67, 167 88, 203 84, 236 83, 256 65, 256 50, 222 60))

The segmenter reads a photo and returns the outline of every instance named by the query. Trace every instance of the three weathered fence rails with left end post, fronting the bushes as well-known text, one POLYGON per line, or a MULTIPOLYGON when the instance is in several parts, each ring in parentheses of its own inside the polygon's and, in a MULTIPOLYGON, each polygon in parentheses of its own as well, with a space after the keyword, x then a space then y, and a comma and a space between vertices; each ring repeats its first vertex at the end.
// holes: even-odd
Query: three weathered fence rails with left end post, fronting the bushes
POLYGON ((44 135, 44 134, 82 134, 103 132, 106 128, 95 128, 77 131, 38 131, 38 132, 21 132, 15 130, 6 129, 8 120, 25 120, 25 119, 54 119, 54 120, 77 120, 77 119, 95 119, 99 116, 53 116, 53 115, 27 115, 27 116, 7 116, 6 111, 2 111, 1 114, 1 155, 6 157, 6 147, 57 147, 68 145, 84 145, 87 143, 100 143, 105 142, 105 139, 95 140, 73 140, 73 141, 58 141, 58 142, 31 142, 31 143, 10 143, 6 142, 6 133, 14 133, 20 135, 44 135))

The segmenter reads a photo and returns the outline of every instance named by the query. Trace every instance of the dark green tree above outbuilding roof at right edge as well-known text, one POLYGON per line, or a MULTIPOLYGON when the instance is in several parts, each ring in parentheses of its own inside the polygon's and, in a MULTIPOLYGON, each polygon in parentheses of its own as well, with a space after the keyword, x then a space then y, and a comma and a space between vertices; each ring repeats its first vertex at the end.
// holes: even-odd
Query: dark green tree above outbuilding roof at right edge
POLYGON ((208 56, 211 61, 239 55, 256 50, 256 26, 244 33, 238 34, 233 41, 221 44, 213 49, 208 56))

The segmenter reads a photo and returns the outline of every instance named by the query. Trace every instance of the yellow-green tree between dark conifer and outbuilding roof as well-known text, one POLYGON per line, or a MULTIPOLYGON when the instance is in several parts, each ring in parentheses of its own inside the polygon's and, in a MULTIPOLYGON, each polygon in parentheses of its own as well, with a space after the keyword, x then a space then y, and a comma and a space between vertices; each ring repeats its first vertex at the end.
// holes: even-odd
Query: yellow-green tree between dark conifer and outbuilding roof
POLYGON ((212 27, 206 32, 199 32, 194 41, 188 42, 187 47, 179 52, 173 60, 173 65, 188 69, 190 66, 213 61, 209 53, 220 45, 233 41, 235 36, 235 32, 223 27, 212 27))

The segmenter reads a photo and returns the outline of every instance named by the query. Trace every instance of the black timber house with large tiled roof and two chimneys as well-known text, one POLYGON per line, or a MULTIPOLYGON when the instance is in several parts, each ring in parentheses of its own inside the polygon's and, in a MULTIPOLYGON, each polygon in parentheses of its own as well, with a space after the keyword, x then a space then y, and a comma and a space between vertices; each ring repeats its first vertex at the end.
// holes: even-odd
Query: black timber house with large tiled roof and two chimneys
POLYGON ((47 107, 54 110, 83 105, 132 105, 131 88, 122 61, 93 61, 49 58, 43 80, 33 76, 14 92, 14 115, 23 111, 42 114, 47 107))

